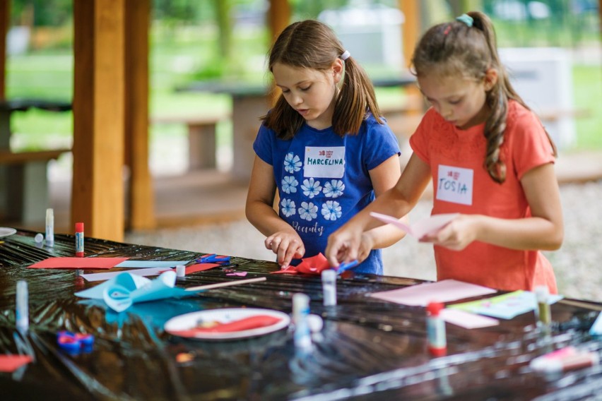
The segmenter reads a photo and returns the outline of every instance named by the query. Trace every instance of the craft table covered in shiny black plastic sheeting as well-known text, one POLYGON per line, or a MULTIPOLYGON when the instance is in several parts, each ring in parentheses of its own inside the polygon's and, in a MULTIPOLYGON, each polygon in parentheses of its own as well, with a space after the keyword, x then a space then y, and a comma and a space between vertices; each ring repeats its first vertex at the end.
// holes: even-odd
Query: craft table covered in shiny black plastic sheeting
MULTIPOLYGON (((418 280, 350 272, 338 280, 338 305, 332 308, 322 306, 319 277, 271 275, 276 263, 233 257, 235 268, 248 272, 246 278, 267 280, 114 313, 73 295, 93 285, 76 271, 27 269, 48 256, 74 252, 72 235, 55 235, 54 248, 48 249, 35 245, 34 234, 18 230, 0 244, 0 352, 35 356, 35 362, 14 373, 0 373, 3 400, 565 400, 595 397, 602 390, 600 366, 556 377, 529 369, 533 357, 565 345, 601 352, 601 342, 579 327, 591 324, 601 304, 554 304, 558 330, 548 340, 534 327, 531 313, 492 328, 447 324, 448 354, 435 358, 426 350, 424 308, 366 296, 418 280), (14 329, 17 280, 27 280, 30 287, 25 336, 14 329), (311 312, 324 318, 310 354, 295 352, 289 330, 224 342, 187 340, 163 331, 172 316, 200 309, 249 306, 290 313, 297 292, 308 294, 311 312), (73 356, 59 350, 55 335, 65 328, 93 333, 93 351, 73 356), (178 354, 191 360, 177 362, 178 354)), ((85 252, 88 257, 179 261, 201 255, 90 238, 85 252)), ((216 268, 189 275, 178 285, 237 278, 216 268)))

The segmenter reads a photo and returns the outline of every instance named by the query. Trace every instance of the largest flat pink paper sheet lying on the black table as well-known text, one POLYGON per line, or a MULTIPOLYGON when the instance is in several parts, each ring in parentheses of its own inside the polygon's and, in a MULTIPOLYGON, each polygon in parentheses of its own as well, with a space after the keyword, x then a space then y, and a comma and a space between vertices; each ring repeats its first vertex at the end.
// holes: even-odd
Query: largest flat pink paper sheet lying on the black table
POLYGON ((493 294, 495 289, 457 280, 412 285, 389 291, 374 292, 370 297, 411 306, 427 306, 431 301, 449 302, 457 299, 493 294))

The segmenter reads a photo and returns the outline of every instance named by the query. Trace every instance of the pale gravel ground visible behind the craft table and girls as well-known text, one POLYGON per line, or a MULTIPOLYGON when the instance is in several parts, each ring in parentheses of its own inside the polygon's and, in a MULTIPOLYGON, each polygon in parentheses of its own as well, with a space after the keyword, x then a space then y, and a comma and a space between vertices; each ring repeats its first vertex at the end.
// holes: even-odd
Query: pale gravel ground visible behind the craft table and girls
MULTIPOLYGON (((602 301, 602 181, 565 184, 560 187, 560 194, 565 241, 560 250, 545 252, 554 266, 558 289, 566 297, 602 301)), ((430 208, 430 200, 420 201, 411 218, 427 216, 430 208)), ((133 244, 273 260, 273 253, 264 249, 263 240, 246 220, 129 233, 125 238, 133 244)), ((431 246, 406 237, 383 253, 386 275, 435 280, 431 246)))

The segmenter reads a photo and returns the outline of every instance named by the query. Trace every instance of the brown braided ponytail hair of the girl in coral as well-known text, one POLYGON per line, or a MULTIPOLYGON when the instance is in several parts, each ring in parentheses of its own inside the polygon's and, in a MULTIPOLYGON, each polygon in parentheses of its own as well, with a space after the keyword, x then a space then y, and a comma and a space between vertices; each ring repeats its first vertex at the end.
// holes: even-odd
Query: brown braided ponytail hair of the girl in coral
MULTIPOLYGON (((506 164, 500 160, 500 146, 504 142, 508 101, 516 100, 526 109, 529 107, 512 88, 506 68, 500 62, 491 20, 478 11, 467 14, 473 18, 472 26, 454 20, 427 30, 414 51, 413 73, 415 76, 425 76, 427 73, 439 76, 457 74, 483 80, 489 68, 497 70, 497 82, 488 90, 485 98, 491 113, 485 121, 487 152, 483 165, 491 178, 501 184, 506 179, 506 164)), ((546 135, 556 155, 556 147, 547 131, 546 135)))

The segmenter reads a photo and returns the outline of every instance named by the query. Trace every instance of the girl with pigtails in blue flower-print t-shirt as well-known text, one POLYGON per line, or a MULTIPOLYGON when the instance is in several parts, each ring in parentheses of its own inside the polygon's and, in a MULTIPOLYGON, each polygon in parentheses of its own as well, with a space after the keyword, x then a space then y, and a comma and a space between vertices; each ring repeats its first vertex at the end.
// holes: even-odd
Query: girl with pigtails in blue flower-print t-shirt
MULTIPOLYGON (((394 186, 400 152, 370 79, 324 23, 285 28, 268 68, 281 95, 261 118, 246 213, 288 268, 324 253, 329 234, 394 186)), ((382 274, 380 248, 403 232, 383 226, 364 237, 355 271, 382 274)))

